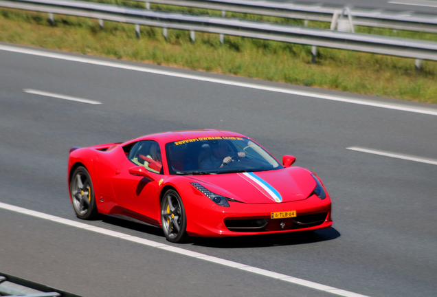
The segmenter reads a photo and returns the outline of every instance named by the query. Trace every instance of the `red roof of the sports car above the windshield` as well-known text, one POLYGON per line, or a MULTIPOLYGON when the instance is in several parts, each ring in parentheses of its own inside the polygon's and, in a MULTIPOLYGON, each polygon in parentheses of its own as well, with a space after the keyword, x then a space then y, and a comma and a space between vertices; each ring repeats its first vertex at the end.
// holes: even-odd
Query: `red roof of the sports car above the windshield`
MULTIPOLYGON (((203 130, 186 130, 186 131, 170 131, 170 132, 161 132, 150 135, 144 135, 142 137, 138 137, 135 140, 130 140, 127 143, 137 142, 140 140, 157 140, 161 143, 168 142, 177 142, 179 140, 188 140, 192 138, 198 137, 213 137, 213 136, 234 136, 234 137, 246 137, 240 133, 225 131, 225 130, 214 130, 214 129, 203 129, 203 130)), ((123 144, 122 144, 123 145, 123 144)))

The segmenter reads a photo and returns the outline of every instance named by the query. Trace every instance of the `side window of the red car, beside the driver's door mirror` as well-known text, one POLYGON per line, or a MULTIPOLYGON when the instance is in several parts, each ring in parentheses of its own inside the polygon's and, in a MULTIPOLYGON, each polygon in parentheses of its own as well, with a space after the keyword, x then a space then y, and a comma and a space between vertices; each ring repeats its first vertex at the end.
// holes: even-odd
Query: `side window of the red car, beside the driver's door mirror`
POLYGON ((164 170, 162 170, 161 148, 153 140, 137 142, 131 148, 129 159, 134 164, 144 166, 153 173, 164 174, 164 170))

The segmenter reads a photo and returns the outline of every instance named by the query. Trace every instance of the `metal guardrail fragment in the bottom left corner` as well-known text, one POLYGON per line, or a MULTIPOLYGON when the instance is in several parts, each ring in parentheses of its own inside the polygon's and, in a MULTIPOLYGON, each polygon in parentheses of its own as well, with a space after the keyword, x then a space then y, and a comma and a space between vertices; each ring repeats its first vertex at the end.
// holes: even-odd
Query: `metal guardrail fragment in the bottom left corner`
POLYGON ((54 287, 42 285, 0 272, 0 296, 10 297, 80 297, 54 287))

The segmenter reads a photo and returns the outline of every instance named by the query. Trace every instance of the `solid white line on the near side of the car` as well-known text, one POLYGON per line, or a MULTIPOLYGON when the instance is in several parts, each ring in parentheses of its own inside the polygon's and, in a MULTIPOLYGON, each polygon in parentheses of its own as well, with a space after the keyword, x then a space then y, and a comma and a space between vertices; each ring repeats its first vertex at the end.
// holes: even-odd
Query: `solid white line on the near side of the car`
POLYGON ((47 219, 49 221, 53 221, 53 222, 57 222, 57 223, 64 223, 66 225, 70 225, 72 227, 76 227, 76 228, 80 228, 83 230, 90 230, 90 231, 94 231, 94 232, 99 232, 101 234, 106 234, 109 236, 114 236, 116 238, 119 239, 125 239, 128 241, 134 241, 136 243, 141 243, 144 245, 148 245, 150 247, 154 247, 154 248, 159 248, 161 250, 168 250, 169 252, 176 252, 178 254, 183 254, 186 256, 190 256, 192 258, 195 259, 200 259, 200 260, 205 260, 205 261, 210 261, 213 263, 217 263, 217 264, 221 264, 221 265, 225 265, 228 267, 234 267, 236 269, 240 269, 240 270, 245 270, 247 272, 253 272, 256 274, 260 274, 262 276, 267 276, 270 278, 275 278, 275 279, 279 279, 281 281, 287 281, 290 283, 295 283, 297 285, 303 285, 305 287, 310 287, 311 289, 318 289, 320 291, 324 291, 324 292, 328 292, 328 293, 332 293, 332 294, 337 294, 340 296, 347 296, 347 297, 368 297, 368 296, 364 296, 364 295, 360 295, 360 294, 356 294, 353 292, 348 292, 342 289, 337 289, 335 287, 329 287, 326 285, 322 285, 319 283, 313 283, 311 281, 305 281, 304 279, 301 278, 295 278, 294 276, 287 276, 286 274, 279 274, 277 272, 271 272, 269 270, 263 270, 261 268, 257 268, 257 267, 252 267, 249 265, 245 265, 245 264, 241 264, 241 263, 236 263, 233 261, 227 261, 225 259, 220 259, 220 258, 216 258, 214 256, 208 256, 206 254, 201 254, 198 252, 192 252, 190 250, 185 250, 183 248, 178 248, 172 245, 166 245, 164 243, 158 243, 155 241, 150 241, 148 239, 142 239, 140 237, 136 237, 136 236, 131 236, 128 234, 124 234, 121 232, 116 232, 113 230, 107 230, 104 228, 100 228, 100 227, 95 227, 93 225, 88 225, 85 223, 78 223, 76 221, 71 221, 69 219, 63 219, 60 217, 55 217, 52 216, 51 214, 45 214, 43 212, 36 212, 34 210, 27 210, 25 208, 20 208, 18 206, 12 206, 10 204, 7 203, 2 203, 0 202, 0 208, 3 208, 5 210, 12 210, 15 212, 19 212, 19 213, 23 213, 23 214, 30 214, 34 217, 39 217, 41 219, 47 219), (70 221, 70 222, 68 222, 70 221))

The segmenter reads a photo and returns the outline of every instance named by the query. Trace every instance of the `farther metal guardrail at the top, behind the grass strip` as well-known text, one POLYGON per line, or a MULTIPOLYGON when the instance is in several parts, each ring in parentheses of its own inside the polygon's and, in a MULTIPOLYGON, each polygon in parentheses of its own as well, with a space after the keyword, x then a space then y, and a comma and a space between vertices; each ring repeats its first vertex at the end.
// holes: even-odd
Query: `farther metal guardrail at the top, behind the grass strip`
POLYGON ((135 0, 148 3, 187 6, 221 10, 224 12, 241 12, 247 14, 261 14, 271 17, 289 19, 304 19, 311 21, 326 21, 331 23, 331 30, 335 30, 339 16, 351 17, 354 25, 363 25, 395 30, 410 30, 437 33, 437 17, 429 14, 415 14, 411 12, 390 12, 382 10, 351 9, 343 7, 283 3, 275 1, 254 0, 135 0))

